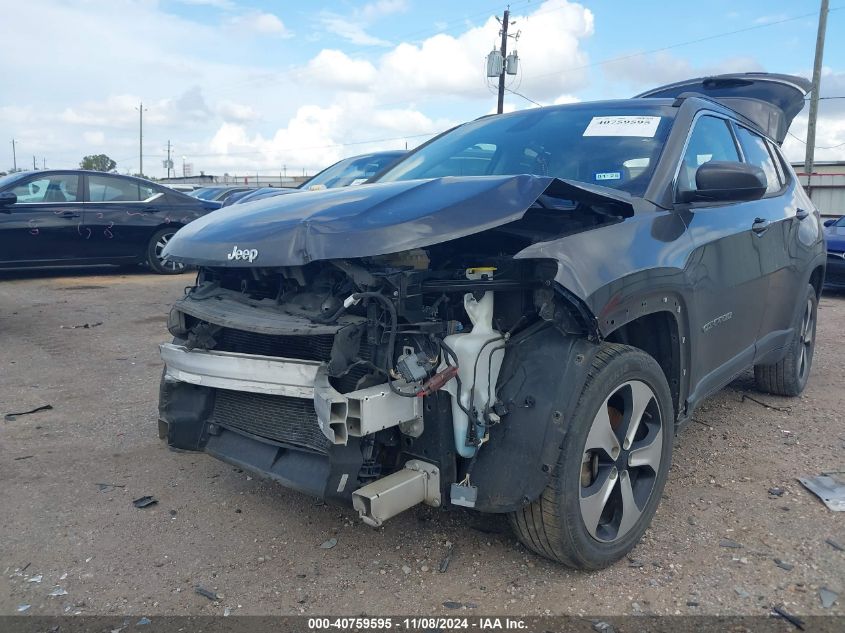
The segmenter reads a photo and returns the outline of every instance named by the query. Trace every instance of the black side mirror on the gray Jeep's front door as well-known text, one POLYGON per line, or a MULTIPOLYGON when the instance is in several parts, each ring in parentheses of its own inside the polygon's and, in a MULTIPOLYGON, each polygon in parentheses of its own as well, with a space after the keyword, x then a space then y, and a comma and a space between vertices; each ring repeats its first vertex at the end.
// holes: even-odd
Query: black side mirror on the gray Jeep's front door
POLYGON ((766 174, 754 165, 711 160, 695 172, 695 191, 681 191, 681 202, 744 202, 766 193, 766 174))

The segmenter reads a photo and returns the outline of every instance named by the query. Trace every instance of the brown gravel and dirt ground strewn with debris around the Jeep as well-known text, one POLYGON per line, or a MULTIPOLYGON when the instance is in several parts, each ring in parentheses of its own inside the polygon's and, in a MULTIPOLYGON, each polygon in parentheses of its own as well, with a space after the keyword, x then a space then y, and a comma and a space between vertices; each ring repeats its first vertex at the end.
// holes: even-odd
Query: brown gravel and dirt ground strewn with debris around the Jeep
POLYGON ((0 420, 0 614, 461 613, 444 602, 467 614, 845 614, 845 552, 826 542, 845 544, 845 515, 796 481, 845 470, 845 295, 822 298, 805 395, 757 393, 749 372, 708 400, 678 438, 645 539, 586 574, 527 552, 502 517, 418 508, 374 530, 351 508, 169 451, 157 344, 191 281, 0 277, 0 413, 53 406, 0 420), (134 508, 144 495, 158 504, 134 508), (66 595, 49 596, 57 587, 66 595), (821 587, 839 594, 830 608, 821 587))

